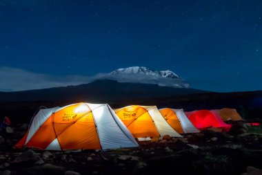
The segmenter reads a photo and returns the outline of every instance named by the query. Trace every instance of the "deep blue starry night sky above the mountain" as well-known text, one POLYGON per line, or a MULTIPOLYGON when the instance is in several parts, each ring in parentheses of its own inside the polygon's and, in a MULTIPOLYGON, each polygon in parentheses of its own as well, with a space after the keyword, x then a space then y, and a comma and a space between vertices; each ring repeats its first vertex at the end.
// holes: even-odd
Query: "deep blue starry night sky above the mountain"
POLYGON ((128 66, 170 69, 196 89, 259 90, 262 1, 0 0, 0 60, 0 91, 128 66))

